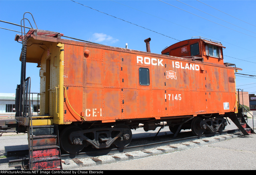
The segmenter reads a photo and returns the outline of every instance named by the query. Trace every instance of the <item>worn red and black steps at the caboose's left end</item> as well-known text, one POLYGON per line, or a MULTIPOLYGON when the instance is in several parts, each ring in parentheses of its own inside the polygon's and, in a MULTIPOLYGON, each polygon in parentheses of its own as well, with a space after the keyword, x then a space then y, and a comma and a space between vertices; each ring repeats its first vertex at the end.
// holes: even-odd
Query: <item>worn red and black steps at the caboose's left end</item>
POLYGON ((30 170, 62 170, 57 126, 30 126, 28 140, 30 170))

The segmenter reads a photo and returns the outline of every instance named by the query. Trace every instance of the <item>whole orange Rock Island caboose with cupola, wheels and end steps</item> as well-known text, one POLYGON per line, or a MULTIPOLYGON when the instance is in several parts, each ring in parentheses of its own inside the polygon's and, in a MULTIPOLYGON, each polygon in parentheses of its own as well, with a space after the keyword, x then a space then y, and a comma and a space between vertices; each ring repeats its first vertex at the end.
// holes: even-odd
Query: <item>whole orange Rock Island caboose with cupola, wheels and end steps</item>
POLYGON ((237 109, 234 71, 241 69, 223 63, 221 43, 199 37, 156 54, 150 38, 143 52, 61 36, 38 29, 25 34, 24 28, 15 37, 23 44, 16 117, 0 126, 1 132, 28 133, 29 169, 61 169, 60 149, 76 154, 89 145, 126 147, 131 129, 139 127, 169 126, 175 136, 191 129, 201 136, 221 132, 229 117, 243 134, 254 133, 240 124, 246 122, 237 109), (26 62, 40 67, 37 116, 31 115, 26 62))

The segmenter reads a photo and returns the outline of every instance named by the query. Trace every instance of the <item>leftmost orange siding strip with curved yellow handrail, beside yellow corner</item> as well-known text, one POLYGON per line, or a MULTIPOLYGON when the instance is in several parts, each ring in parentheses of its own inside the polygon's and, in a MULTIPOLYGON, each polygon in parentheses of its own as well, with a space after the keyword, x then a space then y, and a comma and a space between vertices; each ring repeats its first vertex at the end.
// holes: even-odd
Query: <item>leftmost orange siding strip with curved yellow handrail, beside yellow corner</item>
POLYGON ((66 100, 63 109, 63 122, 81 121, 81 117, 75 112, 80 115, 83 107, 83 47, 65 44, 64 53, 64 86, 67 96, 64 95, 66 100), (68 104, 67 98, 70 104, 68 104))

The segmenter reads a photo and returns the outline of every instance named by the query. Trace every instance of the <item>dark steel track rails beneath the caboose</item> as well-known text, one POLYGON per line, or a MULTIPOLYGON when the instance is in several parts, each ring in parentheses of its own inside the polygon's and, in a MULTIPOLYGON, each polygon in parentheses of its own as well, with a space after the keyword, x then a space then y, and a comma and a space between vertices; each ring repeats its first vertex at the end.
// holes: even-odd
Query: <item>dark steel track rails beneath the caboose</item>
MULTIPOLYGON (((205 138, 209 137, 214 137, 214 136, 220 136, 220 135, 225 135, 229 133, 236 133, 238 132, 239 129, 232 129, 232 130, 224 130, 221 133, 220 132, 215 132, 215 133, 209 133, 209 134, 204 134, 202 136, 192 136, 192 137, 185 137, 185 138, 178 138, 178 139, 173 139, 167 140, 167 141, 160 141, 157 142, 155 141, 154 143, 147 143, 147 144, 142 144, 142 145, 133 145, 133 146, 128 146, 125 148, 112 148, 112 149, 91 149, 91 151, 87 152, 81 152, 77 154, 61 154, 61 159, 78 159, 78 158, 92 158, 97 157, 97 156, 102 156, 102 155, 112 155, 116 153, 127 153, 127 152, 132 152, 132 151, 138 151, 138 150, 145 150, 145 149, 150 149, 154 147, 159 147, 159 146, 165 146, 165 145, 171 145, 171 144, 177 144, 177 143, 183 143, 183 142, 193 142, 194 140, 198 139, 204 139, 207 141, 205 138)), ((185 132, 184 132, 185 133, 185 132)), ((189 132, 186 132, 189 133, 189 132)), ((158 136, 157 139, 161 138, 169 138, 173 134, 168 134, 164 136, 158 136)), ((188 134, 189 135, 189 134, 188 134)), ((132 142, 137 142, 137 141, 142 141, 142 140, 152 140, 154 137, 147 137, 147 138, 138 138, 138 139, 133 139, 132 142)), ((16 150, 16 151, 8 151, 7 152, 7 157, 11 156, 17 156, 17 157, 22 157, 16 160, 9 160, 9 167, 18 167, 21 166, 23 168, 28 167, 28 158, 24 158, 25 155, 28 155, 29 150, 16 150)))

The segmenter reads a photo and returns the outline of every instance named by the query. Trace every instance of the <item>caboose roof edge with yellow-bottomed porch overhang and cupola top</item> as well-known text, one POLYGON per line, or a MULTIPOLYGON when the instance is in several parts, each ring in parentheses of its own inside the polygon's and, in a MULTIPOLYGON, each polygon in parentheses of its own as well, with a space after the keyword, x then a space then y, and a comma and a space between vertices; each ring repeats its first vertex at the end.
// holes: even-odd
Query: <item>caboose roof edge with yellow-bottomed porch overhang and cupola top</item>
MULTIPOLYGON (((26 34, 28 36, 28 42, 27 42, 27 55, 26 55, 26 62, 30 63, 39 63, 41 59, 42 52, 44 52, 46 49, 48 49, 49 45, 51 42, 55 43, 66 43, 66 44, 72 44, 72 45, 80 45, 80 46, 92 46, 92 47, 97 47, 97 48, 111 48, 111 50, 118 50, 118 51, 125 51, 129 53, 140 53, 142 55, 152 55, 152 56, 158 56, 158 57, 171 57, 172 59, 183 59, 187 61, 191 61, 191 59, 186 59, 186 58, 180 58, 180 57, 175 57, 175 56, 168 56, 168 55, 162 55, 158 53, 151 53, 151 52, 144 52, 144 51, 139 51, 139 50, 132 50, 132 49, 126 49, 126 48, 119 48, 119 47, 113 47, 113 46, 107 46, 107 45, 102 45, 102 44, 97 44, 97 43, 90 43, 90 42, 81 42, 81 41, 74 41, 74 40, 69 40, 69 39, 62 39, 61 36, 63 34, 58 33, 58 32, 51 32, 51 31, 44 31, 44 30, 37 30, 37 29, 30 29, 28 33, 26 34), (47 32, 49 34, 47 34, 47 32)), ((21 41, 22 36, 21 35, 16 35, 15 41, 21 41)), ((182 42, 188 42, 188 41, 200 41, 203 40, 205 43, 210 43, 213 45, 218 45, 222 46, 222 44, 215 43, 215 42, 210 42, 204 39, 196 38, 196 39, 188 39, 184 40, 178 43, 182 42)), ((175 46, 176 44, 173 44, 170 47, 175 46)), ((168 47, 169 48, 169 47, 168 47)), ((21 56, 22 53, 20 54, 20 61, 21 61, 21 56)), ((211 64, 211 63, 202 63, 202 64, 211 64)), ((224 66, 224 65, 218 65, 218 66, 224 66)), ((228 66, 230 69, 236 69, 236 70, 242 70, 240 68, 233 68, 231 66, 228 66)))

